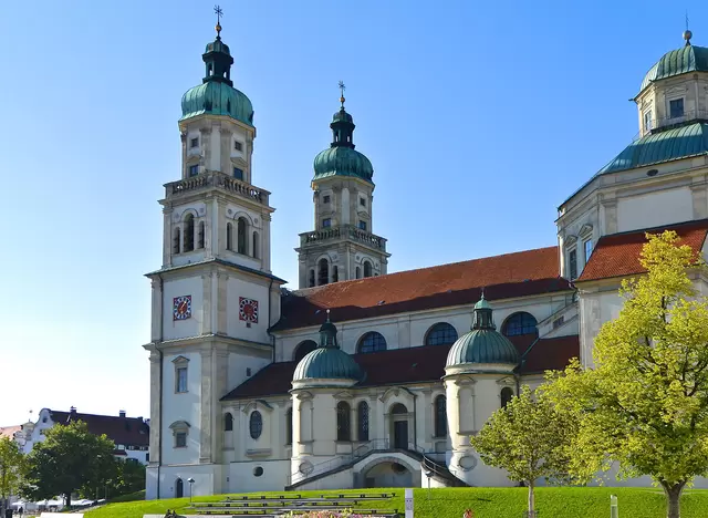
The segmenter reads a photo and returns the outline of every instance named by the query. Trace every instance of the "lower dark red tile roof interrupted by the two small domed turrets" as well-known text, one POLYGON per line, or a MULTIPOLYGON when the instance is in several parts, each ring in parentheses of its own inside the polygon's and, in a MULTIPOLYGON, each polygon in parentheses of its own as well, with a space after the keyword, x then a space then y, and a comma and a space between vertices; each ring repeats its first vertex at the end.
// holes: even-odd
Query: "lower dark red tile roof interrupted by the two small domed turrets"
MULTIPOLYGON (((580 354, 577 335, 555 339, 535 339, 535 335, 511 336, 520 354, 529 351, 521 374, 563 369, 568 361, 580 354)), ((403 385, 436 382, 445 375, 447 353, 451 345, 425 345, 393 349, 376 353, 354 354, 354 360, 366 372, 357 386, 403 385)), ((288 394, 298 362, 271 363, 233 388, 222 401, 288 394)))

